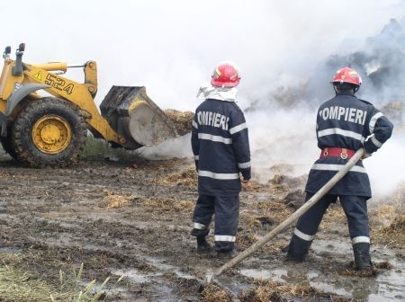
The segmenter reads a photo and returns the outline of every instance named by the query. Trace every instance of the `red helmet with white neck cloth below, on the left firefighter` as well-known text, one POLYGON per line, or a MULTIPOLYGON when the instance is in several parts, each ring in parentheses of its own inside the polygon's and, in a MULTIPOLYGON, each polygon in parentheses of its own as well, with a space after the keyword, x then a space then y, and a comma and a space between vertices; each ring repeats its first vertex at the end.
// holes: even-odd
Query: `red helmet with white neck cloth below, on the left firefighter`
POLYGON ((217 87, 235 87, 240 81, 239 68, 235 63, 218 64, 211 76, 211 85, 217 87))

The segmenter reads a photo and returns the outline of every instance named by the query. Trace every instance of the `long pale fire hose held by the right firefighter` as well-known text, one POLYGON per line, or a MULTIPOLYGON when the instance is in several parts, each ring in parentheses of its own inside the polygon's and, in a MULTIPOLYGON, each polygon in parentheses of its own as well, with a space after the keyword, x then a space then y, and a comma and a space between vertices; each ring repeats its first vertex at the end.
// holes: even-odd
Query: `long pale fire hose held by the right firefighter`
POLYGON ((207 273, 205 276, 204 282, 206 284, 210 283, 211 280, 215 277, 218 277, 222 272, 229 270, 231 267, 235 266, 238 264, 238 262, 243 261, 245 258, 247 258, 249 255, 252 253, 255 253, 261 246, 266 244, 268 241, 273 239, 275 235, 280 234, 282 231, 284 231, 285 228, 289 227, 295 220, 300 218, 302 214, 304 214, 306 211, 311 209, 311 207, 317 203, 326 193, 329 192, 332 187, 337 184, 343 176, 347 174, 347 172, 362 158, 362 156, 365 153, 365 149, 361 148, 356 151, 356 154, 353 155, 352 158, 345 164, 339 171, 338 173, 333 176, 329 182, 327 182, 322 188, 320 188, 320 191, 316 192, 315 195, 311 197, 310 200, 305 202, 300 209, 297 209, 295 212, 293 212, 293 215, 291 215, 289 218, 285 219, 280 225, 275 227, 272 231, 267 233, 262 239, 257 241, 256 244, 252 244, 250 247, 248 247, 245 251, 242 253, 239 253, 238 256, 235 258, 231 259, 229 262, 226 262, 224 265, 218 269, 218 271, 215 271, 214 273, 207 273))

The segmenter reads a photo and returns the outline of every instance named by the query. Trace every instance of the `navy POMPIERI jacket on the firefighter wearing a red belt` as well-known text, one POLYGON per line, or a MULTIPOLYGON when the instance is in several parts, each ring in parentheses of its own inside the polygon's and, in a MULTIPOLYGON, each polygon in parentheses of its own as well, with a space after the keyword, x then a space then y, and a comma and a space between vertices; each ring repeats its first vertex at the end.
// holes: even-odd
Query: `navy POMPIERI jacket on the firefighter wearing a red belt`
MULTIPOLYGON (((340 147, 357 151, 365 147, 372 154, 391 137, 393 125, 374 105, 355 94, 339 92, 320 105, 317 116, 318 147, 340 147)), ((344 157, 344 156, 343 156, 344 157)), ((348 158, 323 157, 311 167, 305 191, 315 193, 335 175, 348 158)), ((368 175, 359 161, 329 194, 371 197, 368 175)))

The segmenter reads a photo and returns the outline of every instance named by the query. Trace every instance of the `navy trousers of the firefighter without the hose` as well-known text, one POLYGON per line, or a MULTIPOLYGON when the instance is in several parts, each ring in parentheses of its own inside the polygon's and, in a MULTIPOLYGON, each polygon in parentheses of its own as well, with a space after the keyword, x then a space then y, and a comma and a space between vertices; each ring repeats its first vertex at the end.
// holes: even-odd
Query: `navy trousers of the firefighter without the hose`
POLYGON ((238 194, 225 196, 199 195, 193 213, 193 234, 208 235, 215 214, 215 250, 226 252, 234 248, 238 230, 238 194))

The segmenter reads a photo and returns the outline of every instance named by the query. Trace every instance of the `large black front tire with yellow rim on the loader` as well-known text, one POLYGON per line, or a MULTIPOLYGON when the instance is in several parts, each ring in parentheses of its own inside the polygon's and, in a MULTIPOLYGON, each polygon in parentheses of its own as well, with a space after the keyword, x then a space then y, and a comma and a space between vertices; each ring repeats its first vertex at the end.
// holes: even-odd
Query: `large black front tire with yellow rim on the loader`
POLYGON ((85 147, 87 128, 79 109, 65 100, 45 97, 30 102, 13 126, 17 160, 31 167, 76 163, 85 147))

